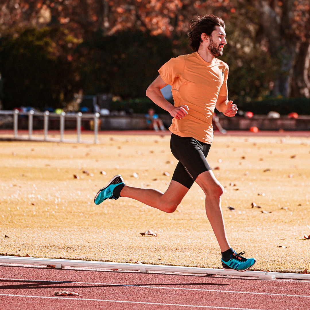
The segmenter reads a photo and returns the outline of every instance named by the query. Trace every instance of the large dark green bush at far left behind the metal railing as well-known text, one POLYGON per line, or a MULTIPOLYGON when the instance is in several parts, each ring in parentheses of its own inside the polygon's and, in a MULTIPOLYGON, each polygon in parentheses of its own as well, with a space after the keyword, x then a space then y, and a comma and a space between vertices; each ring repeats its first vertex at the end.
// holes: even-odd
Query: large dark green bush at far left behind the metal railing
POLYGON ((68 60, 69 43, 68 34, 55 28, 24 29, 2 36, 3 108, 63 108, 71 101, 80 86, 68 60))

